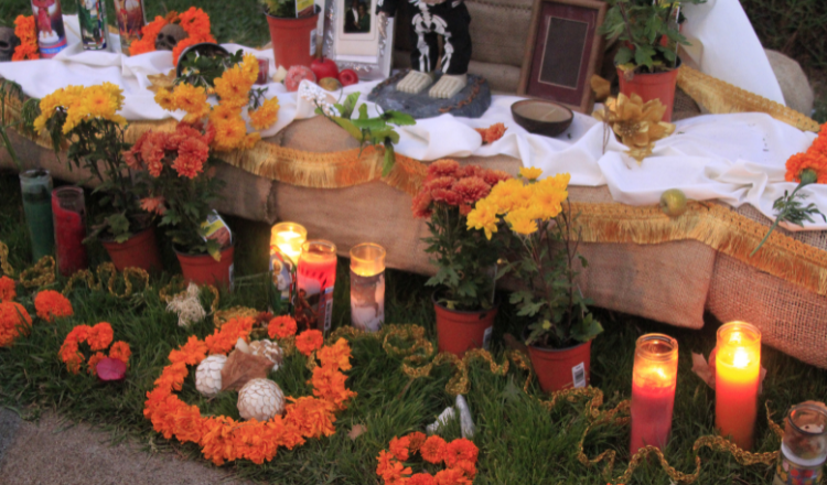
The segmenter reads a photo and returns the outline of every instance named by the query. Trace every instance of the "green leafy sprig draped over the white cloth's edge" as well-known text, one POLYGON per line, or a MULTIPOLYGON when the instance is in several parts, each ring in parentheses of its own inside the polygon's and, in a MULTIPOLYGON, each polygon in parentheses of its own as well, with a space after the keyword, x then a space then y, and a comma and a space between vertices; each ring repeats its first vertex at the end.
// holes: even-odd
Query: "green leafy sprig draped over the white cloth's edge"
POLYGON ((396 162, 394 144, 399 142, 399 133, 394 130, 394 127, 416 125, 417 121, 410 115, 393 110, 385 111, 375 118, 369 118, 367 115, 367 105, 365 104, 358 107, 358 117, 353 118, 358 99, 359 93, 352 93, 347 95, 344 103, 333 105, 337 115, 325 112, 321 107, 315 109, 315 114, 333 120, 333 122, 347 131, 351 137, 358 140, 359 155, 362 155, 362 150, 366 144, 383 147, 385 153, 382 176, 388 176, 396 162))

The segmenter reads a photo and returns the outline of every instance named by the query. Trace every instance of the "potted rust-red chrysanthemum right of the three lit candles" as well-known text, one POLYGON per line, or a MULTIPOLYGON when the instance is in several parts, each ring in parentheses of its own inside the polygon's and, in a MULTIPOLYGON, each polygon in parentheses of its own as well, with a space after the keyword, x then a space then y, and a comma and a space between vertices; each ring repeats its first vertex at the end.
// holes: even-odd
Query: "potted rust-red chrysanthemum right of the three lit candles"
POLYGON ((431 233, 422 240, 437 266, 437 274, 426 284, 437 287, 432 300, 440 352, 461 355, 483 347, 493 331, 496 263, 504 241, 465 227, 473 205, 508 179, 505 172, 439 160, 428 166, 428 176, 414 198, 414 216, 428 219, 431 233))

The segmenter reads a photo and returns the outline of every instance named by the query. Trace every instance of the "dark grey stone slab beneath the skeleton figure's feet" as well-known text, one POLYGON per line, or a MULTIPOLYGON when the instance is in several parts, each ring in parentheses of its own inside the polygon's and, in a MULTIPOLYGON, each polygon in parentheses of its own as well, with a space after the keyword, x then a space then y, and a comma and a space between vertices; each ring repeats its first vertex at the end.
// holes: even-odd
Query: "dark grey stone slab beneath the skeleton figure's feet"
MULTIPOLYGON (((475 74, 468 75, 468 84, 454 97, 449 99, 431 98, 428 89, 411 95, 396 90, 396 84, 400 82, 408 71, 402 71, 388 77, 367 96, 369 101, 376 103, 383 109, 407 112, 417 119, 433 118, 444 114, 464 118, 480 118, 491 106, 491 88, 484 77, 475 74)), ((437 72, 434 84, 442 77, 437 72)), ((432 85, 431 85, 432 86, 432 85)))

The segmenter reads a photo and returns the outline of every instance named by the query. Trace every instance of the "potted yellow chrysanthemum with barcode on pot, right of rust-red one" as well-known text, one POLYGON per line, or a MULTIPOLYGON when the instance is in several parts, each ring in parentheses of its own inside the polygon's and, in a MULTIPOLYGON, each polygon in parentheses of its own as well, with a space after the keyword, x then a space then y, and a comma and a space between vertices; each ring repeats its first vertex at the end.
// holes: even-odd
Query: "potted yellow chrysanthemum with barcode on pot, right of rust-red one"
POLYGON ((495 185, 468 217, 469 228, 486 236, 505 223, 517 241, 518 259, 508 269, 528 288, 512 293, 511 302, 531 321, 524 335, 528 355, 540 387, 550 392, 589 384, 591 341, 603 327, 574 282, 576 262, 587 262, 577 252, 579 237, 572 237, 570 176, 538 181, 540 174, 522 169, 520 180, 495 185))

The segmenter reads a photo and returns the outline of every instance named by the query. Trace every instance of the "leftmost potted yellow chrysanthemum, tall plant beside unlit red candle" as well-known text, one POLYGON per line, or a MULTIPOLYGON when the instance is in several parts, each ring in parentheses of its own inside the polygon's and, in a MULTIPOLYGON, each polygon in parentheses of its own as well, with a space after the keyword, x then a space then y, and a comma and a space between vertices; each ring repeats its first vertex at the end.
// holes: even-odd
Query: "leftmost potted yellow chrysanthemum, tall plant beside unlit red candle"
POLYGON ((84 242, 100 240, 118 270, 160 269, 152 217, 140 206, 146 183, 133 180, 123 157, 122 103, 122 90, 110 83, 61 88, 40 101, 34 127, 51 134, 56 152, 68 142, 69 169, 87 171, 96 183, 98 211, 84 242))

